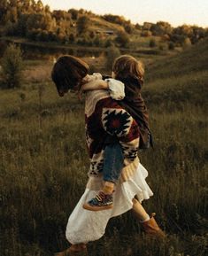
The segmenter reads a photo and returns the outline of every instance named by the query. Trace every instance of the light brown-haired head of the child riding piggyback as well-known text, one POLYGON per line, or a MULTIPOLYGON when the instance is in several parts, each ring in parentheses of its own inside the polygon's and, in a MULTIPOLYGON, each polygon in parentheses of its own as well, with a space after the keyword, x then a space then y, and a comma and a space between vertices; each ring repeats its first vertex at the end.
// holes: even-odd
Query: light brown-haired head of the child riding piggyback
POLYGON ((121 55, 119 58, 116 58, 112 66, 112 71, 115 74, 115 79, 121 81, 135 79, 143 83, 143 64, 131 55, 121 55))

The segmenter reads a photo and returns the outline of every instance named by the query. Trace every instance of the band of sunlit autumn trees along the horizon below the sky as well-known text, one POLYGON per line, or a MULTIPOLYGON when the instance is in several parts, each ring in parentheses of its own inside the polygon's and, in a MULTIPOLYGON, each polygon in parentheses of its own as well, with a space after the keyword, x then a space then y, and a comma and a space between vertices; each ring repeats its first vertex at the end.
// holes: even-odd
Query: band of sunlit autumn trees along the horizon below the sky
MULTIPOLYGON (((168 22, 156 24, 144 22, 132 24, 119 15, 96 15, 83 9, 50 11, 49 5, 41 0, 1 0, 0 35, 21 36, 34 41, 77 43, 89 46, 109 47, 112 44, 125 47, 131 34, 141 36, 160 36, 162 40, 181 46, 193 44, 208 35, 208 29, 182 25, 172 27, 168 22), (119 25, 114 35, 106 36, 90 27, 90 19, 98 17, 119 25)), ((153 45, 153 44, 152 44, 153 45)))

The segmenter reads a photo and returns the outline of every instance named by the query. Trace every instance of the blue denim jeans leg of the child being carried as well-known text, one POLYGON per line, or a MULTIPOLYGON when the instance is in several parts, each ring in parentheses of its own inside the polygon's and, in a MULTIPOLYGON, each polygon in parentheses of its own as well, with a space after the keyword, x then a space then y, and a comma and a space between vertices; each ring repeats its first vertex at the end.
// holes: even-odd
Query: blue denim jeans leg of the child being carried
POLYGON ((104 182, 116 183, 123 167, 124 157, 119 143, 106 144, 104 148, 104 182))

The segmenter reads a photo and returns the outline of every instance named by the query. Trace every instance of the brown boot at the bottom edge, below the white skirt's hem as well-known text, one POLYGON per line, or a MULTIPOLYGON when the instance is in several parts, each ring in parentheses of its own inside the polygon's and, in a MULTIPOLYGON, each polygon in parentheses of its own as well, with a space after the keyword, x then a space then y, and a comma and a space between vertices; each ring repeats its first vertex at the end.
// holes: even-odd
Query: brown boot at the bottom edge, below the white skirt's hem
POLYGON ((63 252, 57 252, 54 256, 87 256, 88 249, 86 244, 73 244, 63 252))

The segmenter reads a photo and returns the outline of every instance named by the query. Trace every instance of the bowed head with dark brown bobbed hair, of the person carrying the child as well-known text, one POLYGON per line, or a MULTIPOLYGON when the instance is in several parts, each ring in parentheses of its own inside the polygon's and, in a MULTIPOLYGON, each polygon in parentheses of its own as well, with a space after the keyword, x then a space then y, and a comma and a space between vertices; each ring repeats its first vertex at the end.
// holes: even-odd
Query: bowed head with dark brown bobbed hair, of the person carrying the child
POLYGON ((58 58, 54 64, 51 78, 60 91, 67 92, 74 89, 81 83, 81 80, 88 74, 89 66, 81 58, 65 55, 58 58))

